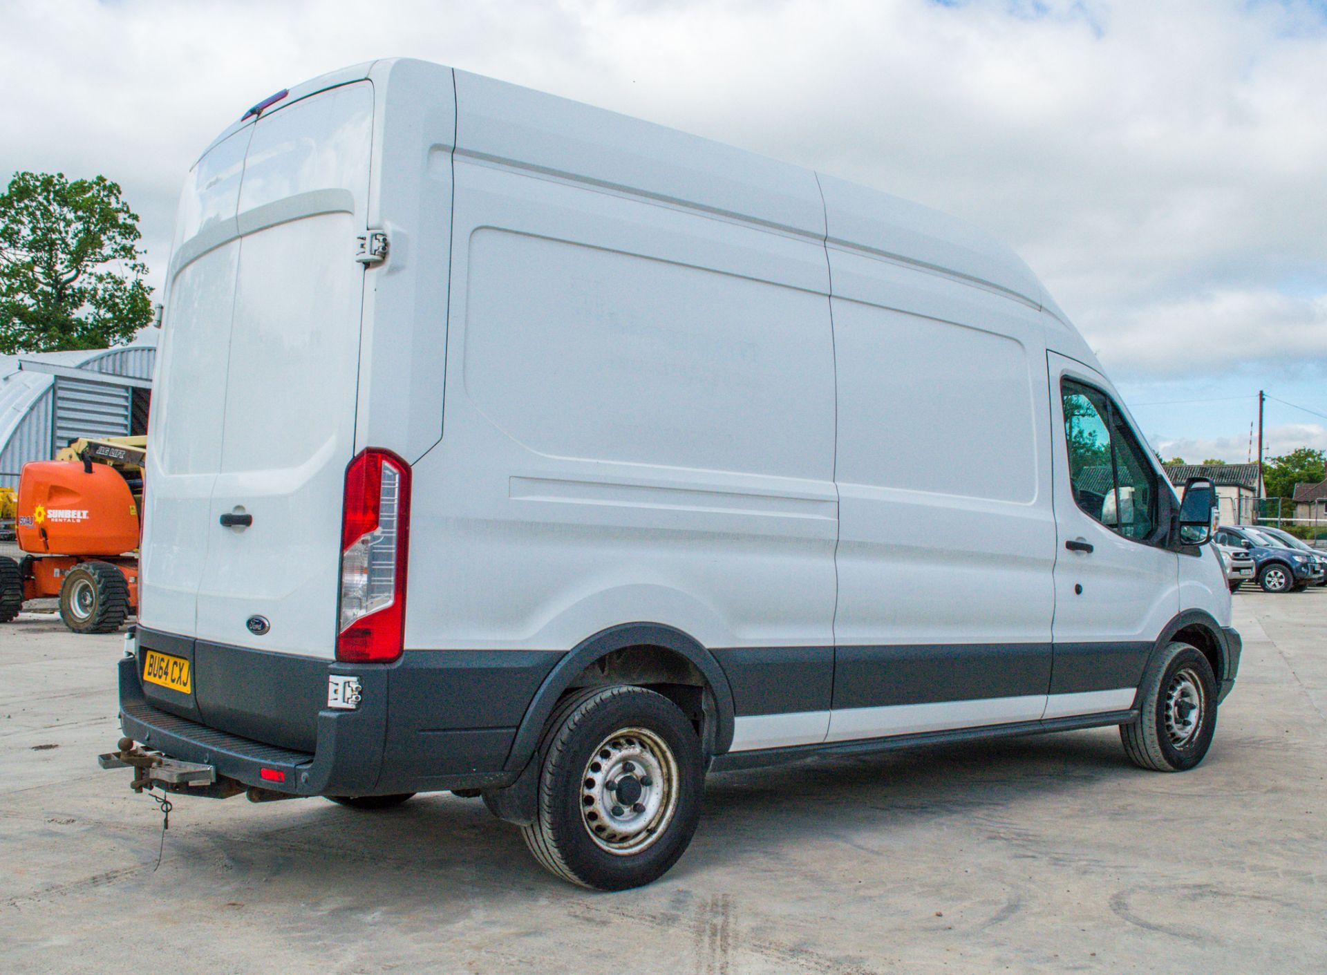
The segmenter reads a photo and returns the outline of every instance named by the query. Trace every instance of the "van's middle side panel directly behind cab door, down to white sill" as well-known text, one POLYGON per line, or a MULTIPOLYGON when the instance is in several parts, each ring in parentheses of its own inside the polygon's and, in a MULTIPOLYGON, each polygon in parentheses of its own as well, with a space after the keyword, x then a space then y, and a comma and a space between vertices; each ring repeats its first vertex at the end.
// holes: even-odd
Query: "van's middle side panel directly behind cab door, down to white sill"
POLYGON ((1055 598, 1039 316, 848 248, 829 260, 840 493, 829 740, 1038 720, 1055 598))

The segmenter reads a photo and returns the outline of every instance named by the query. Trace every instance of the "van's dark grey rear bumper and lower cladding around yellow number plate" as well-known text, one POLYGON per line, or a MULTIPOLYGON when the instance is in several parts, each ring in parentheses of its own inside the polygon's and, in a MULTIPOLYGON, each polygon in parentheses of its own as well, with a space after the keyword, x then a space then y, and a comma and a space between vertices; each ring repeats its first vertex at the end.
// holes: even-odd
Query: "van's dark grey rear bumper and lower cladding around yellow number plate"
POLYGON ((422 650, 353 665, 141 627, 119 662, 119 722, 151 751, 299 796, 502 787, 518 775, 504 769, 516 727, 560 658, 422 650), (146 650, 188 659, 192 691, 145 688, 146 650), (354 710, 325 706, 333 675, 360 682, 354 710))

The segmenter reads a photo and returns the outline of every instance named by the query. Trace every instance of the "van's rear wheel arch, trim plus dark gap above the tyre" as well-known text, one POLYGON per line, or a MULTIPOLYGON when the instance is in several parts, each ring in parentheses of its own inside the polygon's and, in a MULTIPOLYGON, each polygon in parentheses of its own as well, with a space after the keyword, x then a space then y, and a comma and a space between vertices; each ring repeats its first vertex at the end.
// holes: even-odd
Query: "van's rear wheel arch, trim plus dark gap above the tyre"
POLYGON ((587 687, 632 684, 669 698, 683 714, 703 715, 698 728, 707 755, 733 743, 733 691, 714 655, 698 641, 664 623, 622 623, 601 630, 568 653, 544 678, 516 731, 507 769, 525 768, 557 703, 587 687))

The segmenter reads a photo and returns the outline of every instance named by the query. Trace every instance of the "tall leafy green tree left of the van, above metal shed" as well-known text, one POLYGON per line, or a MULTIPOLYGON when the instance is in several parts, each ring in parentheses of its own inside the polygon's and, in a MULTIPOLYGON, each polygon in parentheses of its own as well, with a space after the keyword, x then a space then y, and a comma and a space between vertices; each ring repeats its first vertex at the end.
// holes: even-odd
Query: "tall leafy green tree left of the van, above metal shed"
POLYGON ((153 317, 139 237, 105 176, 16 172, 0 195, 0 353, 127 342, 153 317))

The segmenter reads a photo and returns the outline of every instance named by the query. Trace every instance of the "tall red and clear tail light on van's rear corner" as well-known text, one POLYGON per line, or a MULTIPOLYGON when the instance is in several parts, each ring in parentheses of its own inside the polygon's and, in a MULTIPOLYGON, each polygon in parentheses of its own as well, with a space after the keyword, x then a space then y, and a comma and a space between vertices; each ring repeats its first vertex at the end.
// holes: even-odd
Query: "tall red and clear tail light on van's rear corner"
POLYGON ((389 663, 401 655, 409 536, 410 467, 390 451, 364 451, 345 471, 338 661, 389 663))

